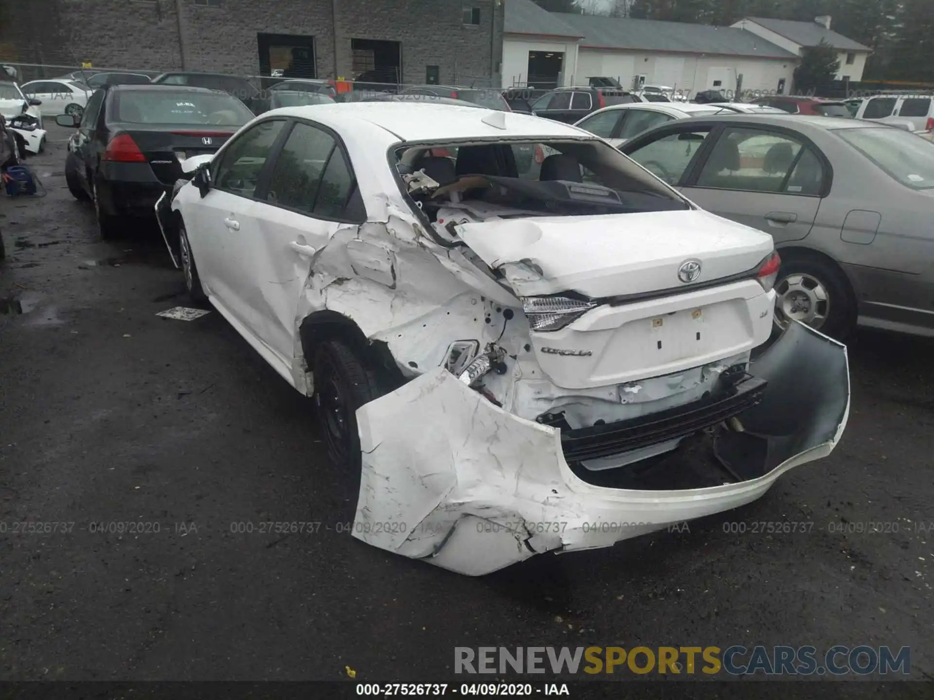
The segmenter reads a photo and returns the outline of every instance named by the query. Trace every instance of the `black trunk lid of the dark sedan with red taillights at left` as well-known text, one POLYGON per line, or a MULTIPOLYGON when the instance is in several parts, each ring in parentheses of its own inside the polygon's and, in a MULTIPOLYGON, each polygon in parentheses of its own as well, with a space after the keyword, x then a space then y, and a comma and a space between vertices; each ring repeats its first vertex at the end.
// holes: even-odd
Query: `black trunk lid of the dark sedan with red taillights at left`
POLYGON ((166 124, 140 129, 134 124, 124 133, 133 138, 159 181, 163 185, 173 185, 182 176, 179 161, 217 152, 237 128, 166 124))

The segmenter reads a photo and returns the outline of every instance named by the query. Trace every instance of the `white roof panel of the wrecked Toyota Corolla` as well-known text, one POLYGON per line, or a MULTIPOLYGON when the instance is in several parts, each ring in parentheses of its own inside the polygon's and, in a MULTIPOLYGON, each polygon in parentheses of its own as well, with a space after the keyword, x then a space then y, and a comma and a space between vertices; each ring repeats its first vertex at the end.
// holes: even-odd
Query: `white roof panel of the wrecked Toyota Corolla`
POLYGON ((351 102, 334 105, 283 107, 266 115, 284 115, 318 121, 335 132, 350 135, 356 122, 372 124, 402 141, 441 141, 490 138, 587 138, 592 133, 551 119, 516 112, 460 105, 433 105, 410 102, 351 102), (505 129, 484 123, 483 119, 504 119, 505 129))

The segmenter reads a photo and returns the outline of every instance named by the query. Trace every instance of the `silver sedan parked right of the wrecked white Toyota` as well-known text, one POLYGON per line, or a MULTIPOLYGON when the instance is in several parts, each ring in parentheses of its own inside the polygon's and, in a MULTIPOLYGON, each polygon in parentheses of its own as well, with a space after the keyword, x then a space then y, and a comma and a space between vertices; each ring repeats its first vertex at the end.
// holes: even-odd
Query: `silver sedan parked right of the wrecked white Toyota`
POLYGON ((737 114, 674 121, 620 150, 771 234, 779 326, 934 335, 934 143, 857 119, 737 114))

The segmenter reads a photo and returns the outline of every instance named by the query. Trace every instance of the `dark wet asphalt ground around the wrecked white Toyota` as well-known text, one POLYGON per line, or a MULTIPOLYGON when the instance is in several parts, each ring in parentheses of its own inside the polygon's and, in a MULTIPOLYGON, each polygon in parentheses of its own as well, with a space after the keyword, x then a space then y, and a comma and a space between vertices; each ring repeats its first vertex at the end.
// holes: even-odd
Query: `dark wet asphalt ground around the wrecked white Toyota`
POLYGON ((931 340, 859 332, 842 443, 752 505, 460 577, 340 531, 356 494, 310 402, 219 314, 156 315, 190 305, 180 273, 154 226, 98 239, 67 135, 28 161, 46 198, 0 199, 0 678, 452 681, 455 646, 732 644, 910 646, 934 678, 931 340))

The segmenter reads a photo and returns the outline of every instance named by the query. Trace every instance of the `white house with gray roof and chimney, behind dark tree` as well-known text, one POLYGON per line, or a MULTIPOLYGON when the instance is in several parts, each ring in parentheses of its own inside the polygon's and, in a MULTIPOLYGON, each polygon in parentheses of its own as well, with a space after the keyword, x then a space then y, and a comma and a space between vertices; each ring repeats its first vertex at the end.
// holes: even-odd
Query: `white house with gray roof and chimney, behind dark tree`
POLYGON ((837 49, 840 70, 835 78, 844 82, 856 83, 863 79, 866 59, 872 52, 869 47, 831 30, 828 15, 815 17, 814 21, 746 17, 733 24, 733 27, 761 36, 766 41, 771 41, 772 44, 791 51, 796 56, 802 55, 804 49, 817 46, 823 39, 837 49))

